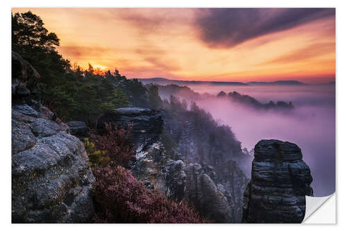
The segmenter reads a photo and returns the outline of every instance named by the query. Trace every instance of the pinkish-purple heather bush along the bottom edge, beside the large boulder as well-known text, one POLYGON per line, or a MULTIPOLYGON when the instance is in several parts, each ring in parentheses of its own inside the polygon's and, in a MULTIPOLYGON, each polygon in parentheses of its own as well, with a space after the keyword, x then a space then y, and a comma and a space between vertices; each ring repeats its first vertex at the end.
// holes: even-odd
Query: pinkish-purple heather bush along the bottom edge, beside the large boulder
POLYGON ((184 201, 168 200, 121 166, 94 168, 95 223, 202 223, 184 201))

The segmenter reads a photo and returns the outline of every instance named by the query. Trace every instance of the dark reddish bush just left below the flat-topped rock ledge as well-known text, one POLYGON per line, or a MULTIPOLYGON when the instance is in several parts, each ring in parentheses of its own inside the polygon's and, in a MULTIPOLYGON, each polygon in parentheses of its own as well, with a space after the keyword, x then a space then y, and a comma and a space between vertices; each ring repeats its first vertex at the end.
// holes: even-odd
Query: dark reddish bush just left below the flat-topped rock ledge
POLYGON ((134 146, 130 139, 130 130, 112 126, 105 123, 103 135, 92 134, 90 136, 96 150, 105 151, 105 156, 110 160, 110 165, 126 165, 133 157, 134 146))

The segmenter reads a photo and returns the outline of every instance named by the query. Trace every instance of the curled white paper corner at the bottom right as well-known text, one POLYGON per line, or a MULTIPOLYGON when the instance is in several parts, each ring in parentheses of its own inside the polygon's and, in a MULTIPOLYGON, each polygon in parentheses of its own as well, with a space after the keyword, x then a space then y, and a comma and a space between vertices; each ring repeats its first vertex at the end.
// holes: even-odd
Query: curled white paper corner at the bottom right
POLYGON ((335 224, 336 223, 336 195, 306 196, 306 211, 303 223, 307 224, 335 224))

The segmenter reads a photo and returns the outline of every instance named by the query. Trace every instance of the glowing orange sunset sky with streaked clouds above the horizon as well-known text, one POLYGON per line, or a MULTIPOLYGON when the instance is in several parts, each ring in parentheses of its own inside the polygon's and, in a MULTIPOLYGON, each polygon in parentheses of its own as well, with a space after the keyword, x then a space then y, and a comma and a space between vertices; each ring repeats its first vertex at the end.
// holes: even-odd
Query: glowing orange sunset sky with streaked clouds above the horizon
POLYGON ((128 78, 335 80, 334 8, 12 8, 28 10, 83 68, 128 78))

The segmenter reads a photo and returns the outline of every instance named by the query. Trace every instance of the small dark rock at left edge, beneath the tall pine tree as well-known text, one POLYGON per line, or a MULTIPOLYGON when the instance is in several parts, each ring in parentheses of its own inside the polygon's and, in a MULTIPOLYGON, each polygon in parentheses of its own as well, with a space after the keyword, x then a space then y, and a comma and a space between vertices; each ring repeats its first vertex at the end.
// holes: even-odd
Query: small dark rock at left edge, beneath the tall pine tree
POLYGON ((36 83, 40 74, 21 55, 12 51, 12 96, 21 98, 37 93, 36 83))

